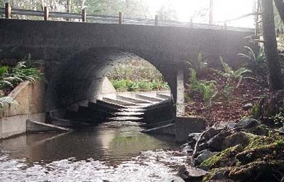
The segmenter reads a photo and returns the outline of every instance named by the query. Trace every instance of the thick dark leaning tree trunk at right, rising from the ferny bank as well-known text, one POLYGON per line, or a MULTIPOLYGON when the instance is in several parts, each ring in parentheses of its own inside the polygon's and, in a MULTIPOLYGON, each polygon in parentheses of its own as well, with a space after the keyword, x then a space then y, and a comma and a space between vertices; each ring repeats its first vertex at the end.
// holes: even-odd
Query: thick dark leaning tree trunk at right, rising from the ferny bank
POLYGON ((283 89, 283 76, 280 69, 275 23, 273 13, 273 0, 262 0, 262 22, 264 49, 268 63, 269 87, 271 91, 283 89))

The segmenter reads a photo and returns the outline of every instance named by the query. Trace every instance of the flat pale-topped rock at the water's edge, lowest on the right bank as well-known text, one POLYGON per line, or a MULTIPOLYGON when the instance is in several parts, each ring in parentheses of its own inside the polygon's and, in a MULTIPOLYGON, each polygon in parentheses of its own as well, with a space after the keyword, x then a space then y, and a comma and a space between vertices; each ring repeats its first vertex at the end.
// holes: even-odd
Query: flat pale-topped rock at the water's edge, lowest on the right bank
POLYGON ((196 181, 202 180, 203 176, 208 173, 208 171, 197 169, 191 166, 182 166, 178 171, 178 176, 185 181, 196 181))

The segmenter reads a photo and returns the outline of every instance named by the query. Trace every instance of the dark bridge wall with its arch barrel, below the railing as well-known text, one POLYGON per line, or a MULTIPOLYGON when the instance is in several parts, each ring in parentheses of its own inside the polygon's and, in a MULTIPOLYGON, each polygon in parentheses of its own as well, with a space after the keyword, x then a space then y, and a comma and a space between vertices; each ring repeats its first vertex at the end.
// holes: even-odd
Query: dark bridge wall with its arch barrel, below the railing
MULTIPOLYGON (((70 23, 0 19, 0 58, 15 48, 45 62, 46 111, 95 101, 102 78, 117 62, 142 57, 170 84, 198 52, 216 65, 219 56, 238 64, 251 32, 158 25, 70 23)), ((16 57, 16 55, 12 55, 16 57)))

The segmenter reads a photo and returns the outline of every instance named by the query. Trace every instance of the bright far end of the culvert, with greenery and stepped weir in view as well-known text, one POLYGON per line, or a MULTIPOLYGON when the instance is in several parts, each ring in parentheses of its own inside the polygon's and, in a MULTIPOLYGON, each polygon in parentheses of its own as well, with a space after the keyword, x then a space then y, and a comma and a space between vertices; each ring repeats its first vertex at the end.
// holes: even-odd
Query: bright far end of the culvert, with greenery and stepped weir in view
POLYGON ((168 82, 153 64, 138 56, 116 62, 109 69, 98 100, 119 108, 109 120, 160 123, 173 119, 168 82))

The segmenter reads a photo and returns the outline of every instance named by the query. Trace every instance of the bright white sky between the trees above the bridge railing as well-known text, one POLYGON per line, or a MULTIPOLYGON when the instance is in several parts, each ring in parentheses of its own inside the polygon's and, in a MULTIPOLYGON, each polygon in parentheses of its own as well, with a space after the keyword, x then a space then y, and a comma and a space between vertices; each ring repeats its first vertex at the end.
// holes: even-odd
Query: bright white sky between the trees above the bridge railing
MULTIPOLYGON (((189 21, 190 16, 202 8, 209 8, 209 0, 146 0, 149 10, 155 12, 161 6, 172 6, 177 11, 179 21, 189 21)), ((214 22, 236 18, 253 12, 254 0, 214 0, 214 22)), ((194 22, 200 20, 195 19, 194 22)), ((253 16, 232 22, 229 25, 253 27, 253 16)))

